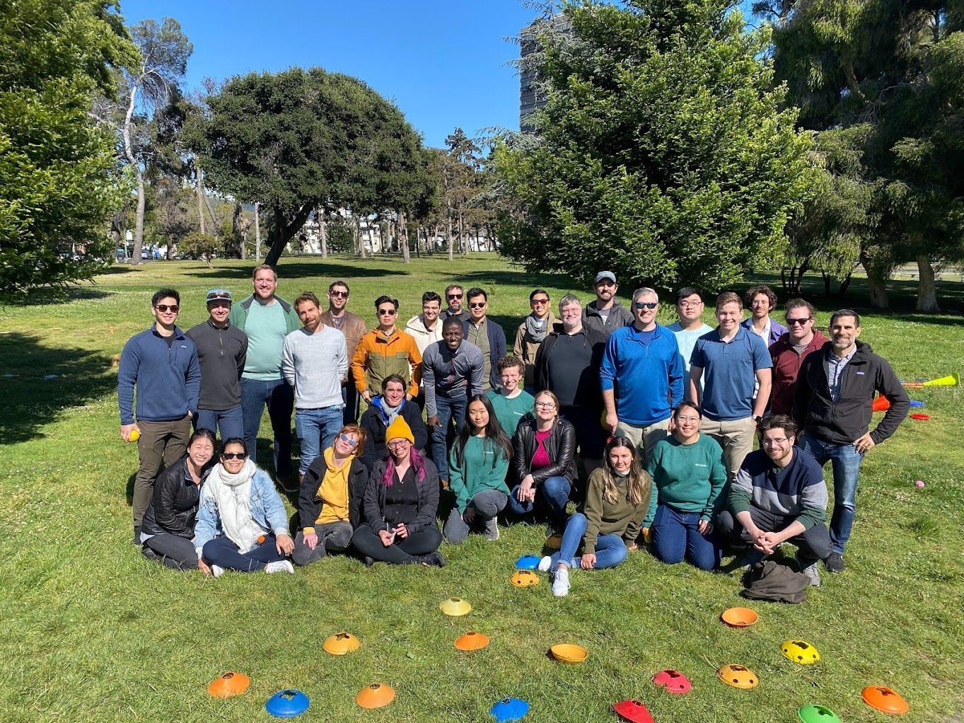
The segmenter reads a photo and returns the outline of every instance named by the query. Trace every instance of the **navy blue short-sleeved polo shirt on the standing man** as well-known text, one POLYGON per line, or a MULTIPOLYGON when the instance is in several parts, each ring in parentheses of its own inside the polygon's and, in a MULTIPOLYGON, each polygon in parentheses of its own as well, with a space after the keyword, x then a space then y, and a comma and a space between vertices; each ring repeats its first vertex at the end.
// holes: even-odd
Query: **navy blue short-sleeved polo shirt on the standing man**
POLYGON ((689 359, 703 369, 703 414, 713 421, 735 421, 753 415, 757 369, 773 367, 763 337, 740 327, 729 343, 717 327, 700 336, 689 359))

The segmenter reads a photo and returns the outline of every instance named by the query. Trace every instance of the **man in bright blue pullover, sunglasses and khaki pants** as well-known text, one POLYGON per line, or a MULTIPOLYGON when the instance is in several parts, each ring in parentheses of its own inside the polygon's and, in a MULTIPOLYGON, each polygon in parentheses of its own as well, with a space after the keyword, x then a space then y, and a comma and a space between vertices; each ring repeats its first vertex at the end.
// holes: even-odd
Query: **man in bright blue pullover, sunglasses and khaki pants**
POLYGON ((658 310, 654 289, 632 293, 635 318, 609 335, 600 369, 606 427, 610 434, 622 428, 643 450, 644 467, 656 442, 669 435, 673 410, 683 401, 683 357, 676 336, 656 323, 658 310))

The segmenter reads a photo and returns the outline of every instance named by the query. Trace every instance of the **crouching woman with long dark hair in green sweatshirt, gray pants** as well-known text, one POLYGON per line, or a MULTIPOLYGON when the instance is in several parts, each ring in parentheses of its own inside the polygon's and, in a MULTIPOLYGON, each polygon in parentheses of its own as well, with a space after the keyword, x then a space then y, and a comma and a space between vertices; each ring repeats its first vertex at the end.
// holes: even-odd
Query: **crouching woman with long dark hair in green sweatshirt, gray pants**
POLYGON ((445 522, 448 542, 464 542, 476 522, 482 522, 486 540, 498 539, 496 516, 509 501, 505 475, 511 459, 512 442, 502 431, 492 403, 481 394, 473 396, 448 455, 448 481, 455 493, 455 507, 445 522))

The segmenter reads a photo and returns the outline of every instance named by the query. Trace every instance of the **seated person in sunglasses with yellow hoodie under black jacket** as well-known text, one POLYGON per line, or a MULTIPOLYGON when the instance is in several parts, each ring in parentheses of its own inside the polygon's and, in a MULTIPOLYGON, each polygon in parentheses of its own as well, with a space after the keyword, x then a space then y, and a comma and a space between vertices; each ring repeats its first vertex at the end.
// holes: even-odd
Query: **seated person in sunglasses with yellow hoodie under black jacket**
POLYGON ((332 446, 315 457, 302 479, 298 517, 302 530, 295 537, 291 559, 310 565, 329 552, 343 552, 362 522, 362 496, 368 469, 362 464, 365 432, 345 424, 332 446))

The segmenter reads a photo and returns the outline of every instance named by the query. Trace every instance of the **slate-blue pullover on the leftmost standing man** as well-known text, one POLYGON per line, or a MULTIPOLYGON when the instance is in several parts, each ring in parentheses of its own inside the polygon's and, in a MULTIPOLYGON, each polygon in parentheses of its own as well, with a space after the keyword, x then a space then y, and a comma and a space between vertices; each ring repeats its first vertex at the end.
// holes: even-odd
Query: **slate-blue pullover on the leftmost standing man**
POLYGON ((174 421, 198 415, 201 364, 198 348, 179 328, 168 346, 153 325, 124 344, 118 370, 120 423, 134 423, 134 390, 138 421, 174 421))

